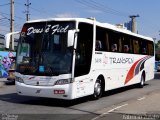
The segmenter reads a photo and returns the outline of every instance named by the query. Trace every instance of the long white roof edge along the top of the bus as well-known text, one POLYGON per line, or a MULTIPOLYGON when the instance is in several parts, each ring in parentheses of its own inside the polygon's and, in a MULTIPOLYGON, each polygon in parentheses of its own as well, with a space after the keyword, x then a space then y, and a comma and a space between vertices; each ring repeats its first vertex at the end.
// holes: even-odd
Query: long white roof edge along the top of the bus
POLYGON ((108 29, 111 29, 117 32, 121 32, 121 33, 125 33, 125 34, 132 35, 135 37, 140 37, 142 39, 153 41, 153 38, 151 37, 146 37, 144 35, 133 33, 125 28, 119 28, 116 25, 112 25, 109 23, 98 22, 95 20, 95 18, 48 18, 48 19, 38 19, 38 20, 27 21, 26 23, 37 23, 37 22, 46 22, 46 21, 77 21, 77 22, 85 22, 85 23, 90 23, 90 24, 95 23, 99 27, 108 28, 108 29))

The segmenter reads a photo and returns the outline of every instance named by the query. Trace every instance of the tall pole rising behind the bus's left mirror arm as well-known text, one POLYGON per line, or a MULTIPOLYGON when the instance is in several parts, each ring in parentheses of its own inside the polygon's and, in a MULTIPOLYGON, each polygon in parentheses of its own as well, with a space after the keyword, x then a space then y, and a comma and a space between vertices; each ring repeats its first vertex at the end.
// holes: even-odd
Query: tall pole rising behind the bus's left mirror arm
MULTIPOLYGON (((10 32, 14 32, 14 0, 10 0, 10 32)), ((11 35, 11 48, 14 50, 14 37, 11 35)))

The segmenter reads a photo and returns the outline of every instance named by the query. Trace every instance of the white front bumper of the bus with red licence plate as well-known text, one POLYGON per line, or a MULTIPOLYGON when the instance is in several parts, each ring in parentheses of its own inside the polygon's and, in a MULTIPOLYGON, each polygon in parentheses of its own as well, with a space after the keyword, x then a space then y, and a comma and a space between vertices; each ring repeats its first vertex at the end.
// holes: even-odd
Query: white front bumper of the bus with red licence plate
POLYGON ((16 81, 16 91, 19 95, 34 97, 74 99, 74 97, 72 96, 71 87, 72 84, 55 86, 33 86, 16 81))

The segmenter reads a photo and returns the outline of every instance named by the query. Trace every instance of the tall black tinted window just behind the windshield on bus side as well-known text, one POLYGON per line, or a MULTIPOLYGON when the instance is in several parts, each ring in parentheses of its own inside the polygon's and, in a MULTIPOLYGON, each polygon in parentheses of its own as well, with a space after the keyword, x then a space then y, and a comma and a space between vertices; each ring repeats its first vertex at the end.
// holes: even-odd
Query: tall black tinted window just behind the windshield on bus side
POLYGON ((93 25, 79 23, 76 49, 75 76, 86 75, 90 71, 93 48, 93 25))

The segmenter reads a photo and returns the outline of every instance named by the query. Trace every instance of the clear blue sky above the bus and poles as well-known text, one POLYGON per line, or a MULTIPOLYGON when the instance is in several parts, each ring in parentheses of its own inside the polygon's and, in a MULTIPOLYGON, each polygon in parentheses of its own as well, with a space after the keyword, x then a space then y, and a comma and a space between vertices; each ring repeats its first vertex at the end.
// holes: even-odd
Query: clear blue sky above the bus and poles
MULTIPOLYGON (((10 30, 10 0, 0 0, 0 34, 10 30)), ((14 29, 26 22, 27 0, 14 0, 14 29)), ((136 18, 139 34, 160 40, 160 0, 29 0, 30 20, 55 17, 94 17, 97 21, 123 24, 136 18)))

